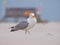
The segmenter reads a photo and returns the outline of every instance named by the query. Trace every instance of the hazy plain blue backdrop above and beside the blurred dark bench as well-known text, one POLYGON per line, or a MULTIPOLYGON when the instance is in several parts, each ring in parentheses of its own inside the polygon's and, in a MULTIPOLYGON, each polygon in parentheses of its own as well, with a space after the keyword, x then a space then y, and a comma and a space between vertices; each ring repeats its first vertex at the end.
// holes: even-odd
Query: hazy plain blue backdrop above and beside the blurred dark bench
MULTIPOLYGON (((60 0, 7 0, 6 7, 42 7, 41 18, 44 20, 60 20, 60 0)), ((4 16, 2 0, 0 0, 0 19, 4 16)))

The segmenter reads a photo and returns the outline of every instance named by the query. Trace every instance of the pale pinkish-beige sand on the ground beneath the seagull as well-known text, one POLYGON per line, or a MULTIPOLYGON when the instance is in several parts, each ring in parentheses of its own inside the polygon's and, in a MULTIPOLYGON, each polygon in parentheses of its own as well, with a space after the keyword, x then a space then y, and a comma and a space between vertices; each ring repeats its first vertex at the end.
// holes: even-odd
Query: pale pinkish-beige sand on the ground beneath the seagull
POLYGON ((10 32, 9 27, 16 23, 0 23, 0 45, 60 45, 60 22, 38 23, 24 31, 10 32))

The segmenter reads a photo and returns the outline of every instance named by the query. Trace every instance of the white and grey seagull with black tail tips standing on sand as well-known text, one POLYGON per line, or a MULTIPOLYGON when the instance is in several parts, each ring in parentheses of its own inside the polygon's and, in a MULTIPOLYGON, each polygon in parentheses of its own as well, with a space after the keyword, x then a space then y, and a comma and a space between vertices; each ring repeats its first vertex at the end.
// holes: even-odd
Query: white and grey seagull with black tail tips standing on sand
POLYGON ((35 26, 35 24, 37 23, 37 19, 34 13, 31 12, 28 14, 29 15, 25 14, 25 16, 28 16, 28 18, 25 21, 21 21, 17 25, 10 27, 11 32, 24 30, 25 33, 30 33, 29 30, 35 26))

